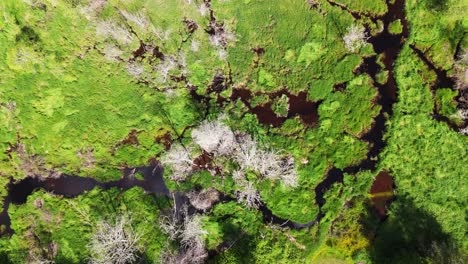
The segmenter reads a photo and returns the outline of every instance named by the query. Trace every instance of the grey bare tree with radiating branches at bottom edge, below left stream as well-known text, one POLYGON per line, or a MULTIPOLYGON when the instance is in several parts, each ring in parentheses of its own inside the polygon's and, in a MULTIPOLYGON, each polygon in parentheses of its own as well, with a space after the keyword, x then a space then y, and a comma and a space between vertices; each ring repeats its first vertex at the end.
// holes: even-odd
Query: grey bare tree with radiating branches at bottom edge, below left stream
POLYGON ((90 263, 133 263, 138 258, 139 239, 140 236, 133 230, 131 221, 127 217, 119 217, 113 224, 99 222, 89 244, 90 263))

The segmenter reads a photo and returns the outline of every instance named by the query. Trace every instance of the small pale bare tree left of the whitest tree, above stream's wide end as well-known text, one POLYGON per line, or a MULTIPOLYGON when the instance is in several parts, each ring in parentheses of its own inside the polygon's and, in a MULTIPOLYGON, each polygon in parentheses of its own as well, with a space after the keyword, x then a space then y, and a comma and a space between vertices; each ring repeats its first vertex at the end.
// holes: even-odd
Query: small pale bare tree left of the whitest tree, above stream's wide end
POLYGON ((162 163, 172 168, 171 179, 174 181, 184 181, 192 173, 193 161, 190 151, 181 145, 173 144, 162 163))

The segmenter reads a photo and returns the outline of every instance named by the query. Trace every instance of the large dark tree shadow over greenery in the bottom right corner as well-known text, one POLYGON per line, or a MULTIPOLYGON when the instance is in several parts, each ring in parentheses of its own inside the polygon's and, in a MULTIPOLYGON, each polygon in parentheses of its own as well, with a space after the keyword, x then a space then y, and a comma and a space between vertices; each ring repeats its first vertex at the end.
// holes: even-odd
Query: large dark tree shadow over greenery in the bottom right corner
POLYGON ((368 248, 372 263, 468 263, 434 216, 408 197, 398 197, 388 218, 374 228, 375 236, 368 248))

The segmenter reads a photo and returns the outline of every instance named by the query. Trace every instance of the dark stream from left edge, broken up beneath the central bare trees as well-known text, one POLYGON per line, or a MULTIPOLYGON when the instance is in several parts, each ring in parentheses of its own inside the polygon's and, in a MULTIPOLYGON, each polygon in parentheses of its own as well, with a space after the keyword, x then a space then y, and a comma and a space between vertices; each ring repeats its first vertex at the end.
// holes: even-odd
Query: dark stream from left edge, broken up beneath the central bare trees
MULTIPOLYGON (((0 235, 12 234, 14 232, 14 230, 11 229, 11 221, 8 215, 9 205, 24 204, 28 196, 39 189, 43 189, 55 195, 62 195, 66 198, 74 198, 96 187, 104 190, 119 188, 124 191, 133 187, 140 187, 148 193, 174 199, 174 206, 178 210, 180 210, 184 204, 190 205, 185 193, 171 193, 169 191, 162 176, 163 168, 159 163, 155 163, 151 166, 125 168, 122 170, 122 174, 123 177, 121 179, 109 182, 99 182, 93 178, 73 175, 61 175, 58 178, 46 179, 27 177, 18 182, 14 182, 13 179, 11 179, 7 187, 8 196, 4 199, 3 211, 0 214, 0 225, 4 227, 0 235), (139 180, 134 176, 137 173, 143 175, 143 180, 139 180)), ((222 193, 221 197, 219 202, 236 201, 235 197, 228 194, 222 193)), ((189 210, 191 213, 196 211, 193 207, 189 207, 189 210)), ((277 224, 282 227, 296 229, 305 228, 313 225, 317 221, 317 219, 314 219, 309 223, 303 224, 283 219, 274 215, 264 203, 260 204, 258 210, 263 214, 263 220, 266 224, 277 224)))

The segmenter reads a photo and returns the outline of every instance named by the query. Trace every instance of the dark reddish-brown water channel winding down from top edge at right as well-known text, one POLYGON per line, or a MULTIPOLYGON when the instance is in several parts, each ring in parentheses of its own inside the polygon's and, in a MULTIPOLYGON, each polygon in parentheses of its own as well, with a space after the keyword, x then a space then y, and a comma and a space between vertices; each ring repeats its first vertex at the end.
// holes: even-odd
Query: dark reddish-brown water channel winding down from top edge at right
MULTIPOLYGON (((332 3, 332 5, 350 12, 340 4, 332 3)), ((371 56, 364 58, 363 63, 356 72, 356 74, 368 74, 372 78, 373 85, 377 87, 379 94, 376 104, 382 107, 377 117, 374 118, 374 123, 371 129, 361 136, 362 140, 369 143, 370 148, 367 152, 367 157, 357 165, 346 167, 343 170, 334 167, 327 172, 325 179, 317 185, 315 188, 315 202, 320 208, 320 214, 322 214, 321 208, 325 204, 323 196, 333 184, 343 183, 343 173, 355 175, 359 171, 374 171, 378 163, 378 155, 386 146, 386 142, 384 141, 384 133, 386 129, 385 122, 387 121, 387 118, 393 114, 393 104, 398 99, 398 87, 395 80, 394 63, 409 36, 408 21, 405 17, 405 1, 395 0, 392 4, 387 0, 387 7, 388 12, 383 16, 371 17, 371 20, 374 22, 377 20, 381 20, 383 22, 384 27, 382 32, 372 36, 370 34, 370 28, 368 26, 366 27, 367 34, 370 36, 368 42, 372 44, 378 55, 383 56, 384 67, 382 68, 380 64, 377 63, 377 56, 371 56), (391 34, 388 31, 390 23, 395 20, 401 21, 402 32, 400 34, 391 34), (379 84, 376 78, 377 74, 382 70, 388 71, 388 79, 385 84, 379 84)), ((356 19, 361 18, 362 16, 356 12, 351 13, 351 15, 356 19)), ((366 16, 369 15, 366 14, 366 16)), ((379 183, 382 177, 384 176, 378 176, 379 183)), ((382 210, 378 210, 378 212, 380 215, 382 210)))

